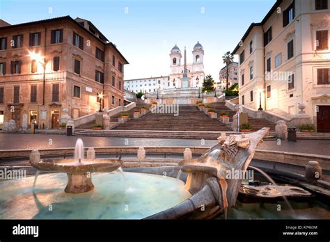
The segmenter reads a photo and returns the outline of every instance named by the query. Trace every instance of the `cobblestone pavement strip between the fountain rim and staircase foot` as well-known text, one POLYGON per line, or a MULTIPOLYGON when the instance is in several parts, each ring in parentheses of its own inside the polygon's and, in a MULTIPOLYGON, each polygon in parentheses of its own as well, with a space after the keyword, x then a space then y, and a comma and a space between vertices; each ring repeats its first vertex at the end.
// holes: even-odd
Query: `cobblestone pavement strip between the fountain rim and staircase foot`
MULTIPOLYGON (((168 138, 116 138, 91 136, 63 136, 56 134, 0 134, 0 150, 32 150, 74 147, 77 138, 84 140, 86 147, 105 146, 187 146, 211 147, 217 140, 183 140, 168 138)), ((258 145, 259 150, 276 150, 306 154, 322 154, 330 156, 330 140, 297 140, 297 143, 267 140, 258 145)))

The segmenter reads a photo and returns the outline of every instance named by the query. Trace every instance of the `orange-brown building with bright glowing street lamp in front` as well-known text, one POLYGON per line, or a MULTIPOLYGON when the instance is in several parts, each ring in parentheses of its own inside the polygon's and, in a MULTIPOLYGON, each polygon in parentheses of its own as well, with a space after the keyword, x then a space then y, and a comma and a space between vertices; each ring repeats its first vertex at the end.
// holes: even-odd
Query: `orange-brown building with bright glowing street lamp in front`
POLYGON ((63 108, 79 118, 123 105, 128 62, 88 20, 0 24, 0 121, 58 128, 63 108))

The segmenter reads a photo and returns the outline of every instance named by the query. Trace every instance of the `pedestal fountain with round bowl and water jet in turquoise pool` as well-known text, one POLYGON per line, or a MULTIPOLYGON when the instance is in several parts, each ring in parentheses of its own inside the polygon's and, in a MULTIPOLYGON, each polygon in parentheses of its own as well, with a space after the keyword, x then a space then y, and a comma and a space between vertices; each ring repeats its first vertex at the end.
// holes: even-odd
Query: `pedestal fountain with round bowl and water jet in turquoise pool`
POLYGON ((77 139, 74 148, 74 159, 45 159, 31 161, 31 166, 37 170, 65 172, 68 184, 65 193, 86 193, 93 190, 93 172, 112 172, 122 165, 120 159, 84 159, 84 143, 77 139))

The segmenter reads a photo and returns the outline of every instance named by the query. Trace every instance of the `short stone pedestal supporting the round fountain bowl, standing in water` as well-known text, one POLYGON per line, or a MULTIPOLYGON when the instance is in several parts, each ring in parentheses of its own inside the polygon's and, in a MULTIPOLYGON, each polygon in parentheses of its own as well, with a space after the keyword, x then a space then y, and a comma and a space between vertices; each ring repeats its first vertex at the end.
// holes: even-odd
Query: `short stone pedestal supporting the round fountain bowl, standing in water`
POLYGON ((91 173, 67 175, 68 184, 65 187, 65 193, 86 193, 94 189, 91 173))

